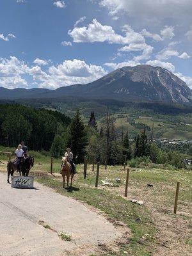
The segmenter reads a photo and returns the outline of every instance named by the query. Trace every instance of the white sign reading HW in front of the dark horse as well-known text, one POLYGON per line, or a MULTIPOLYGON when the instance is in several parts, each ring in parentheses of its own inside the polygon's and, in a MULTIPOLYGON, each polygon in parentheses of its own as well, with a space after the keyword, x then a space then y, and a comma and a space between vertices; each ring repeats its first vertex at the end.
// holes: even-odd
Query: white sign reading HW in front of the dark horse
POLYGON ((12 176, 12 188, 33 188, 32 176, 12 176))

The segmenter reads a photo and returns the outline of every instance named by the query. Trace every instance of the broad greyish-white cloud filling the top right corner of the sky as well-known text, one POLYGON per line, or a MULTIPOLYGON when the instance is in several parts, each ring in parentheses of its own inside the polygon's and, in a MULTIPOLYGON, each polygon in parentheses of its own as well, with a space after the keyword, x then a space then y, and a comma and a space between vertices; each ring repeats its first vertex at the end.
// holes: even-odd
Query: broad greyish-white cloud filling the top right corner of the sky
POLYGON ((191 0, 99 0, 100 6, 108 8, 109 15, 128 13, 129 17, 140 17, 143 22, 164 20, 191 20, 191 0), (150 19, 150 20, 149 20, 150 19))

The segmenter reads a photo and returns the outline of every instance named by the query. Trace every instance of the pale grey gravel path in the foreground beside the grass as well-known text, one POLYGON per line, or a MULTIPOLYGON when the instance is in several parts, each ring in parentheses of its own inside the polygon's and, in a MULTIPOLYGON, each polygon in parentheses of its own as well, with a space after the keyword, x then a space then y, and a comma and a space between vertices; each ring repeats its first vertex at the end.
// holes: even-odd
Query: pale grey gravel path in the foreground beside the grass
POLYGON ((13 189, 0 173, 0 256, 60 256, 72 255, 74 250, 79 256, 86 255, 82 248, 92 252, 98 242, 111 243, 121 235, 80 202, 36 182, 35 188, 13 189), (58 234, 62 231, 70 234, 72 241, 61 240, 58 234))

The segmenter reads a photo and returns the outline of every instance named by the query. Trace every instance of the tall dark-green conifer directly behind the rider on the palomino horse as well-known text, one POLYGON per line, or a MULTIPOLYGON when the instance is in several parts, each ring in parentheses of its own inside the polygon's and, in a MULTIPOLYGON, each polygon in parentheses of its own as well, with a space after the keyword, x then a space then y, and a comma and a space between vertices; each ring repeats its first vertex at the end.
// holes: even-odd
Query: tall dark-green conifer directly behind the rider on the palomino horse
POLYGON ((83 157, 86 154, 86 145, 88 144, 84 124, 81 115, 77 111, 68 128, 67 145, 71 148, 74 158, 77 157, 76 163, 83 163, 83 157))

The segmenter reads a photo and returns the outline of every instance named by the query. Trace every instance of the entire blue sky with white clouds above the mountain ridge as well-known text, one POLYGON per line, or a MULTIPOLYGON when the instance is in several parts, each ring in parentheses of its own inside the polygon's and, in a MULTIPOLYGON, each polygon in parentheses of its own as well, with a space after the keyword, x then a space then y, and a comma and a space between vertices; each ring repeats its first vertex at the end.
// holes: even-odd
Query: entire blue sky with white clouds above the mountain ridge
POLYGON ((56 89, 166 68, 192 89, 192 0, 0 0, 0 86, 56 89))

